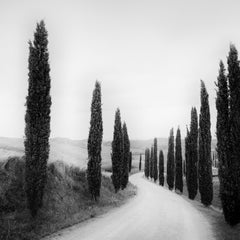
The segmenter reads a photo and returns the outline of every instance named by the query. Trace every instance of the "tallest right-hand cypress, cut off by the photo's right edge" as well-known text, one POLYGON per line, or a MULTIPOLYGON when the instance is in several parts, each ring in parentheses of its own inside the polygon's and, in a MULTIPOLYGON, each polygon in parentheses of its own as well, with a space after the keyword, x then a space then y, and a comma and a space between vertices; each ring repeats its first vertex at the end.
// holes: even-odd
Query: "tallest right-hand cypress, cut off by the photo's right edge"
POLYGON ((240 222, 240 67, 238 52, 234 45, 230 46, 227 62, 229 80, 229 160, 226 171, 228 171, 229 175, 229 187, 225 191, 228 191, 229 207, 225 211, 225 219, 231 225, 235 225, 240 222))

